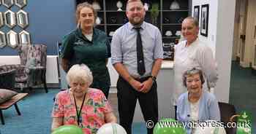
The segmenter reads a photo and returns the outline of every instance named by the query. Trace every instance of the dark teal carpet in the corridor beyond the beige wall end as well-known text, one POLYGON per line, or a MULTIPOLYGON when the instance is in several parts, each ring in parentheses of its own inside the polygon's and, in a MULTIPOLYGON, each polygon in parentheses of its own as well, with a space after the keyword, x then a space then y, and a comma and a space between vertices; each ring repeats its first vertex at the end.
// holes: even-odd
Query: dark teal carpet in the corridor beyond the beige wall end
POLYGON ((247 111, 252 114, 252 133, 256 134, 256 76, 251 68, 242 68, 232 62, 230 76, 230 103, 236 106, 237 113, 247 111))

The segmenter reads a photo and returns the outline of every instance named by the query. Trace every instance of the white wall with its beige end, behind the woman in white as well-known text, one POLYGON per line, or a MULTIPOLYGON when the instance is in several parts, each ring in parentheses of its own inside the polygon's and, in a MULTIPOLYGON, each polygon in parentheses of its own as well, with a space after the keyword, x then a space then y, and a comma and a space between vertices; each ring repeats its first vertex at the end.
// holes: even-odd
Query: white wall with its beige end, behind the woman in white
POLYGON ((236 0, 192 1, 192 7, 202 4, 209 4, 209 23, 208 37, 200 36, 200 39, 214 50, 218 63, 219 80, 215 87, 215 95, 218 101, 228 102, 236 0))

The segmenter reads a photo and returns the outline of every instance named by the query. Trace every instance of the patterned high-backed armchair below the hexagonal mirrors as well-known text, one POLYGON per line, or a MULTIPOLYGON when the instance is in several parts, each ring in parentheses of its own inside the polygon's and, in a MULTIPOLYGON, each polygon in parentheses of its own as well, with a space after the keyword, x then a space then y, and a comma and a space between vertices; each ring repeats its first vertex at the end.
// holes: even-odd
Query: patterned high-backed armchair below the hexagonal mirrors
POLYGON ((34 45, 20 45, 18 53, 20 56, 20 64, 18 65, 5 65, 1 68, 15 68, 17 73, 15 76, 15 87, 23 88, 32 87, 43 84, 45 92, 48 92, 46 85, 46 59, 47 59, 47 46, 44 44, 34 45))

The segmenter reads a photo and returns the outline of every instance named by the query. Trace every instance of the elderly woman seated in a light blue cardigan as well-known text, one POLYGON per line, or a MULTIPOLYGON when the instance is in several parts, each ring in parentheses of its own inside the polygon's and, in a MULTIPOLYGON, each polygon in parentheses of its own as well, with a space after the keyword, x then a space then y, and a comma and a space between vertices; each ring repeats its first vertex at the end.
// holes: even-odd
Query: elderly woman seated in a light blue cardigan
MULTIPOLYGON (((202 90, 203 72, 192 68, 183 74, 183 84, 187 92, 181 94, 177 102, 177 119, 180 122, 220 121, 219 106, 214 94, 202 90)), ((194 124, 195 125, 195 124, 194 124)), ((195 127, 186 127, 187 133, 195 133, 195 127)))

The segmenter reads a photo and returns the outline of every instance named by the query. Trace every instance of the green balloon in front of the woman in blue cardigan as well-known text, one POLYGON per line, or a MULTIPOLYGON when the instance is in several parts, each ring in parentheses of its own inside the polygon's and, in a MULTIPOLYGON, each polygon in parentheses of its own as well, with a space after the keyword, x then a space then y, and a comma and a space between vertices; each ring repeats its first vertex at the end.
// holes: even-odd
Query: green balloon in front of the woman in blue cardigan
POLYGON ((186 130, 180 122, 175 119, 166 118, 161 119, 154 126, 154 134, 186 134, 186 130))

